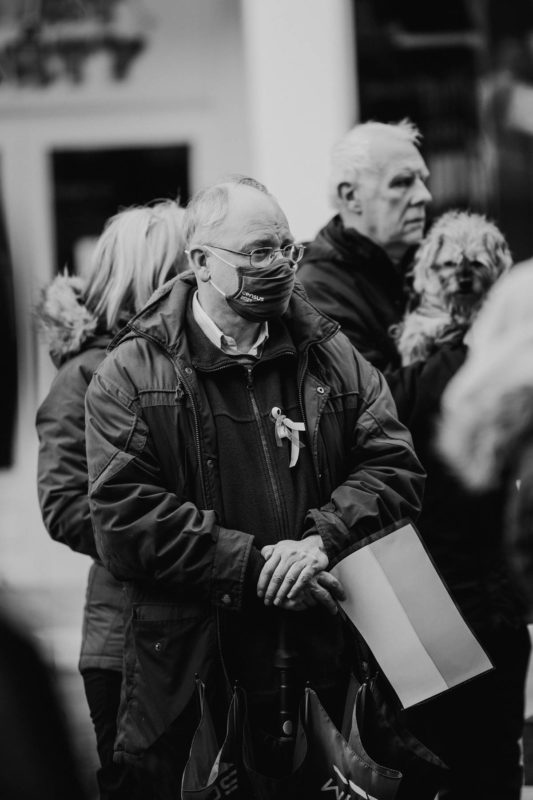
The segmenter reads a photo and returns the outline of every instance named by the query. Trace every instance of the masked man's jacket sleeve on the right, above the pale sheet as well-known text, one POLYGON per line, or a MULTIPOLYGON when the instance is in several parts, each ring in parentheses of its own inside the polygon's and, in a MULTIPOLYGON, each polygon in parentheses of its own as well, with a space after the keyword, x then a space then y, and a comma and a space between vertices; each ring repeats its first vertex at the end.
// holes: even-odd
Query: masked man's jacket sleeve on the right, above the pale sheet
POLYGON ((330 563, 356 541, 403 518, 416 519, 425 481, 383 375, 353 357, 360 394, 348 475, 325 505, 308 512, 305 525, 304 535, 321 535, 330 563))

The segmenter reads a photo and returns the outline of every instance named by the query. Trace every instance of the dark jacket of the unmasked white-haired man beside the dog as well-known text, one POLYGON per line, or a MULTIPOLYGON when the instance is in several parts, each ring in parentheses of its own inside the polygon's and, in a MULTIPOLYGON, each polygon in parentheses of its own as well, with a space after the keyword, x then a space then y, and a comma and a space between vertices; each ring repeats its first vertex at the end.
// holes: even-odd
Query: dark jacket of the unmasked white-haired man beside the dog
POLYGON ((400 366, 389 328, 405 309, 404 274, 381 247, 345 228, 339 215, 306 246, 298 270, 309 300, 382 371, 400 366))

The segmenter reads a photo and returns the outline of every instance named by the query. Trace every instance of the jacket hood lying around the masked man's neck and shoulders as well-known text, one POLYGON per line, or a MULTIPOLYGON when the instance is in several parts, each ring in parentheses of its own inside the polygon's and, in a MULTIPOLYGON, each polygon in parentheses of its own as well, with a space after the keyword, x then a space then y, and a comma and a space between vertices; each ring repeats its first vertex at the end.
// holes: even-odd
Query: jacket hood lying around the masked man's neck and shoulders
MULTIPOLYGON (((195 289, 196 278, 192 271, 184 272, 166 283, 155 292, 144 309, 130 320, 126 331, 115 337, 113 346, 133 332, 152 339, 171 353, 177 353, 182 347, 187 306, 195 289)), ((299 281, 295 283, 283 319, 300 348, 328 339, 339 330, 337 322, 322 314, 307 300, 305 289, 299 281)))

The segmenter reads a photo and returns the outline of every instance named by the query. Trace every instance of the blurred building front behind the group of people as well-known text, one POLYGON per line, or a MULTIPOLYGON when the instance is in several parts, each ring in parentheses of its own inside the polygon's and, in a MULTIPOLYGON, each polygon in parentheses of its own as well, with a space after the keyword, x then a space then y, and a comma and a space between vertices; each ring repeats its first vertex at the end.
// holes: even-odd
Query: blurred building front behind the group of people
MULTIPOLYGON (((89 563, 37 504, 41 288, 83 274, 121 207, 186 202, 228 172, 311 238, 333 142, 405 116, 432 214, 485 212, 533 256, 533 0, 0 0, 0 582, 71 699, 89 563)), ((92 747, 83 702, 75 718, 92 747)))

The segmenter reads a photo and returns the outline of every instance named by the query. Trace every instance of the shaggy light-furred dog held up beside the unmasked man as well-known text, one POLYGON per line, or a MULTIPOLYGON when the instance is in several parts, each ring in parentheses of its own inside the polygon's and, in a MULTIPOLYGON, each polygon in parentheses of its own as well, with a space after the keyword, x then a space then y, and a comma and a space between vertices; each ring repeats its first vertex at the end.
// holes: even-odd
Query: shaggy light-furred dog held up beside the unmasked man
POLYGON ((391 335, 407 366, 462 338, 493 283, 512 265, 498 228, 480 214, 449 211, 421 243, 410 309, 391 335))

